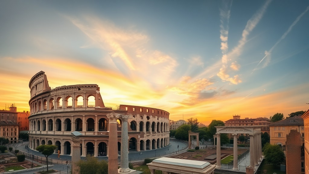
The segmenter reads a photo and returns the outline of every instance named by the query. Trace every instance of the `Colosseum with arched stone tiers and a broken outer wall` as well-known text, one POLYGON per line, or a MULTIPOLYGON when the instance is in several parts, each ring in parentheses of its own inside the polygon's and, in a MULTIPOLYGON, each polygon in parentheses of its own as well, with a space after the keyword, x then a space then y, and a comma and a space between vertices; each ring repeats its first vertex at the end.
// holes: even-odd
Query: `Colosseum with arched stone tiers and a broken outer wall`
MULTIPOLYGON (((30 82, 29 147, 58 146, 55 153, 72 155, 71 132, 82 133, 81 156, 108 156, 109 113, 128 115, 129 151, 151 150, 169 144, 169 113, 150 107, 120 105, 105 107, 99 86, 69 85, 51 89, 45 72, 30 82), (91 102, 93 101, 93 102, 91 102), (31 143, 30 143, 31 142, 31 143)), ((118 123, 118 151, 121 150, 121 119, 118 123)))

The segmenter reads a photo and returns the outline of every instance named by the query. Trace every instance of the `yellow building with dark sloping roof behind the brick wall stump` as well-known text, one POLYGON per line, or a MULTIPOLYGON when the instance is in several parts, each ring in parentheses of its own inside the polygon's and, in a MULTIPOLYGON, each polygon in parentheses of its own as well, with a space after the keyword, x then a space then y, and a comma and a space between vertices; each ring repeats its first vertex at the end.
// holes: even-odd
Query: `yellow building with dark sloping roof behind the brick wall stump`
POLYGON ((302 137, 305 137, 304 120, 301 115, 288 117, 284 120, 269 124, 270 127, 270 144, 285 145, 286 135, 291 130, 297 130, 302 137))

